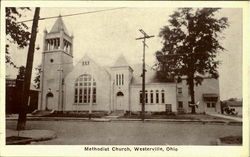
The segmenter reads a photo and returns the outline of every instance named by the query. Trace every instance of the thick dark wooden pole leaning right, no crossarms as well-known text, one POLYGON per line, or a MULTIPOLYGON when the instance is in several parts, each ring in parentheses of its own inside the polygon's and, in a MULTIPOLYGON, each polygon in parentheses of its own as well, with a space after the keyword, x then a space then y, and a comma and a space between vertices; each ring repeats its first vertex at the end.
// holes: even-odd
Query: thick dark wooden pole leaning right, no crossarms
POLYGON ((21 107, 20 107, 19 116, 18 116, 17 130, 25 130, 25 125, 26 125, 26 114, 28 111, 27 103, 28 103, 28 97, 29 97, 29 92, 30 92, 30 80, 31 80, 32 67, 33 67, 33 58, 34 58, 39 14, 40 14, 40 8, 37 7, 35 9, 32 30, 31 30, 30 44, 29 44, 29 50, 28 50, 28 56, 27 56, 27 62, 26 62, 26 72, 25 72, 25 77, 24 77, 23 97, 21 100, 21 107))

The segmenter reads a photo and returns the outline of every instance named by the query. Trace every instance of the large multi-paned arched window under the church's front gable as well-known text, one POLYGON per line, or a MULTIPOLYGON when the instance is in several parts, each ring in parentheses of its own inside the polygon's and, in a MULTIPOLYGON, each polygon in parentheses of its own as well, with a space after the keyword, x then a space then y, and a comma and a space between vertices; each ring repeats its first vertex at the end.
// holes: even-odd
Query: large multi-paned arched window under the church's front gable
POLYGON ((77 104, 89 104, 91 97, 92 97, 92 103, 96 103, 95 79, 91 78, 91 75, 89 74, 84 74, 79 76, 75 81, 74 102, 77 104))

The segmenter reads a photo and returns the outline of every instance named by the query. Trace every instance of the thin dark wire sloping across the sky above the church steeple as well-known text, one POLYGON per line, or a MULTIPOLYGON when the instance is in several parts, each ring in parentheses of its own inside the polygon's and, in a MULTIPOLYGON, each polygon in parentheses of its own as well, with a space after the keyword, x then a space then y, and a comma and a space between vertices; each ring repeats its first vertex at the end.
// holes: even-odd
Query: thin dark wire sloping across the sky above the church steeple
MULTIPOLYGON (((92 13, 98 13, 98 12, 104 12, 104 11, 118 10, 118 9, 124 9, 124 8, 126 8, 126 7, 119 7, 119 8, 112 8, 112 9, 102 9, 102 10, 94 10, 94 11, 74 13, 74 14, 67 14, 67 15, 60 15, 60 16, 61 17, 69 17, 69 16, 76 16, 76 15, 92 14, 92 13)), ((46 19, 53 19, 53 18, 58 18, 58 16, 50 16, 50 17, 39 18, 39 20, 46 20, 46 19)), ((33 19, 24 20, 24 21, 20 21, 20 22, 17 22, 17 23, 30 22, 30 21, 33 21, 33 19)))

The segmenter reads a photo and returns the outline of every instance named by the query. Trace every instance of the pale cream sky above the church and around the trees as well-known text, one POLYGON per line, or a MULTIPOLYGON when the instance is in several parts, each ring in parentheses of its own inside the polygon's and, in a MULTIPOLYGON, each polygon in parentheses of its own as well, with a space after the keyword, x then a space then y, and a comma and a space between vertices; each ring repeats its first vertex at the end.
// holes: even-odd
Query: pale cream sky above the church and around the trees
MULTIPOLYGON (((108 8, 41 8, 40 17, 66 15, 72 13, 88 12, 108 8)), ((78 16, 63 17, 70 34, 74 36, 73 56, 74 65, 88 54, 102 66, 112 66, 117 57, 123 54, 130 64, 142 62, 142 42, 135 40, 141 37, 139 29, 143 29, 148 35, 155 35, 147 40, 146 64, 153 66, 154 53, 162 48, 162 39, 158 37, 160 29, 168 25, 169 15, 177 8, 123 8, 118 10, 84 14, 78 16)), ((20 20, 32 19, 34 8, 25 12, 20 20)), ((223 32, 224 39, 220 39, 226 51, 219 53, 217 59, 221 61, 219 66, 220 97, 242 98, 242 9, 223 8, 217 17, 228 17, 230 26, 223 32)), ((33 68, 41 64, 43 47, 43 31, 48 32, 52 28, 54 19, 41 20, 38 24, 38 34, 33 68)), ((26 23, 31 27, 32 22, 26 23)), ((11 45, 11 57, 17 66, 26 64, 27 50, 18 49, 11 45)), ((33 70, 32 77, 36 71, 33 70)), ((6 75, 15 78, 17 70, 6 66, 6 75)))

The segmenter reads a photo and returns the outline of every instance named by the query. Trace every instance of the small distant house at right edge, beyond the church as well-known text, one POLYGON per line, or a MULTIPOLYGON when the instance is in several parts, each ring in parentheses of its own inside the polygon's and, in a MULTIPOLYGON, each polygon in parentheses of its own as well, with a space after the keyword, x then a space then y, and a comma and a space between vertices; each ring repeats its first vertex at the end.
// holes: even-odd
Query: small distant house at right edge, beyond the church
POLYGON ((222 103, 224 111, 230 110, 233 114, 242 115, 242 100, 225 100, 222 103))

